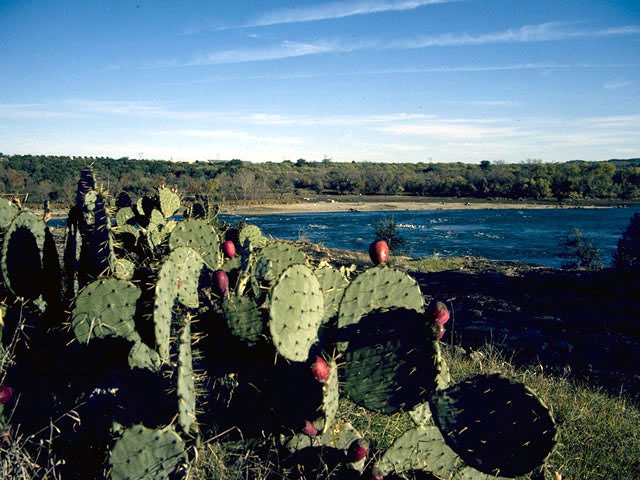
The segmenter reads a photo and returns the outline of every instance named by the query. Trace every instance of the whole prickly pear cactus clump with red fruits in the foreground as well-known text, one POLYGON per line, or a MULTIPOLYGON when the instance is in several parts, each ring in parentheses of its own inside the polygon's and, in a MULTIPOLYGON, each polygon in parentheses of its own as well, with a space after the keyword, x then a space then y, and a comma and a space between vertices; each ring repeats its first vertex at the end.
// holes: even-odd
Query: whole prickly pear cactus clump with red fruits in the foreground
POLYGON ((86 458, 70 478, 180 478, 202 432, 225 424, 272 436, 292 464, 318 452, 356 478, 514 477, 553 448, 549 410, 524 385, 450 385, 448 311, 425 308, 406 273, 314 264, 254 225, 226 226, 206 197, 179 219, 175 191, 110 202, 96 185, 83 171, 62 271, 44 222, 0 199, 1 338, 19 337, 0 415, 14 402, 37 432, 80 405, 54 442, 86 458), (416 427, 373 455, 375 439, 338 420, 342 395, 416 427))

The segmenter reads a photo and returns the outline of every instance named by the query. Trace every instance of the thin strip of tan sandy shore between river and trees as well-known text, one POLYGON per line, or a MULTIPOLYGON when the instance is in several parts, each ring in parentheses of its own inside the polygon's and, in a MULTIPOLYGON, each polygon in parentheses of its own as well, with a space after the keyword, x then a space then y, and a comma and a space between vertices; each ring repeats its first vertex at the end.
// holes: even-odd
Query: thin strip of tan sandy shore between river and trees
MULTIPOLYGON (((274 213, 327 213, 327 212, 374 212, 374 211, 406 211, 406 210, 481 210, 481 209, 555 209, 576 208, 575 206, 558 206, 557 204, 539 203, 501 203, 501 202, 438 202, 438 201, 380 201, 380 202, 354 202, 354 201, 308 201, 287 204, 263 204, 245 206, 223 205, 221 212, 234 215, 267 215, 274 213)), ((611 208, 595 205, 581 206, 579 208, 611 208)))

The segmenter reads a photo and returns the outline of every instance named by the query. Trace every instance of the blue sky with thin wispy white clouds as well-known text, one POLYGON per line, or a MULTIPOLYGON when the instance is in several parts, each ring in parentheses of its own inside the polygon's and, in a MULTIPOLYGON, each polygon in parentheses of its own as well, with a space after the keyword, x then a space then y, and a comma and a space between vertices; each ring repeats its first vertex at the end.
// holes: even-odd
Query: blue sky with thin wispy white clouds
POLYGON ((640 2, 0 0, 0 151, 640 157, 640 2))

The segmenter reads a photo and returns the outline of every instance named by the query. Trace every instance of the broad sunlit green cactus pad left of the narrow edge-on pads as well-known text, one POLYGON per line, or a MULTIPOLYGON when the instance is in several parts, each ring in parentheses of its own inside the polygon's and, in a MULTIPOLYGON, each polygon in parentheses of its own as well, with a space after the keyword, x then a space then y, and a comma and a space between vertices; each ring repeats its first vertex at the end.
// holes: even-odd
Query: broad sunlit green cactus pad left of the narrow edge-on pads
POLYGON ((71 326, 78 342, 92 338, 123 337, 140 341, 134 315, 140 289, 116 278, 96 280, 78 294, 71 315, 71 326))

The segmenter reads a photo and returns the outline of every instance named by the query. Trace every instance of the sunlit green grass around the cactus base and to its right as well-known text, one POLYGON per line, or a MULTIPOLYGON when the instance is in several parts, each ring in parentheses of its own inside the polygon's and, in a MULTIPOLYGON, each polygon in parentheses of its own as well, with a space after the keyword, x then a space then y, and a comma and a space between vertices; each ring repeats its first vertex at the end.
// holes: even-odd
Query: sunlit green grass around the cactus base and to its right
MULTIPOLYGON (((480 373, 501 372, 532 388, 551 407, 559 428, 559 442, 546 465, 549 479, 640 478, 640 410, 624 396, 551 375, 540 366, 515 368, 496 348, 464 352, 443 346, 452 382, 480 373)), ((341 399, 338 421, 351 422, 373 439, 380 455, 400 434, 413 427, 407 414, 371 413, 346 398, 341 399)), ((199 451, 193 478, 293 478, 280 470, 273 442, 213 441, 199 451)))

